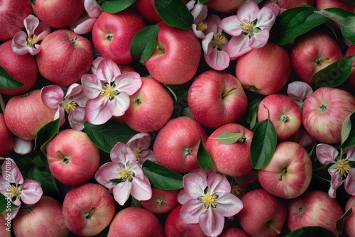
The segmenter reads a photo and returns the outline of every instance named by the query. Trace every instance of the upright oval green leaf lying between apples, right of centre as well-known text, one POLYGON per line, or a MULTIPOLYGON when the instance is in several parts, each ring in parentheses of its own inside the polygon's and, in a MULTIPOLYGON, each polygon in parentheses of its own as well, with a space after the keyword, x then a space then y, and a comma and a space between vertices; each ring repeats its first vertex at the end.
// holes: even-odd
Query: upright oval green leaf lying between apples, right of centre
POLYGON ((256 123, 253 139, 251 139, 251 164, 256 170, 265 167, 273 156, 277 143, 276 131, 270 119, 256 123))

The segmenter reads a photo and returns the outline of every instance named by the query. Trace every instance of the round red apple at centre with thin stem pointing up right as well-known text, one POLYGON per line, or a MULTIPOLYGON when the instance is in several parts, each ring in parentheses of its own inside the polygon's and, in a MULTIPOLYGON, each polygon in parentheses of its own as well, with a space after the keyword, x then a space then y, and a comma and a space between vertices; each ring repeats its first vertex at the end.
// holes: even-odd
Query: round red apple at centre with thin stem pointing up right
POLYGON ((195 119, 209 128, 235 123, 248 109, 248 99, 239 80, 227 72, 214 70, 195 78, 187 93, 187 104, 195 119))

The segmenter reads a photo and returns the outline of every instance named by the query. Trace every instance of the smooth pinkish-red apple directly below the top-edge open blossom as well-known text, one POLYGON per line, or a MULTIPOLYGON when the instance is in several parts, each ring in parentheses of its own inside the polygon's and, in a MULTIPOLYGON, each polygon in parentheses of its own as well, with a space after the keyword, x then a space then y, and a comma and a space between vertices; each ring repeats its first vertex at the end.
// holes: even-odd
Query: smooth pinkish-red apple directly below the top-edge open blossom
POLYGON ((274 43, 254 48, 236 59, 236 78, 244 89, 258 94, 268 95, 280 91, 288 81, 290 72, 290 55, 274 43))

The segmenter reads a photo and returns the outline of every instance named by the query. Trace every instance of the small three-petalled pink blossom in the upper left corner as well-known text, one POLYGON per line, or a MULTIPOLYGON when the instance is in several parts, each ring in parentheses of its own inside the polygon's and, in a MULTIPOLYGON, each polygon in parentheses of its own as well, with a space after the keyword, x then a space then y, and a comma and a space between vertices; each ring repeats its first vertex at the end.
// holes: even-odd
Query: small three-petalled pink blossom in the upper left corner
POLYGON ((40 44, 38 42, 43 40, 45 36, 50 33, 50 27, 45 23, 40 22, 37 17, 29 15, 23 20, 27 34, 23 31, 18 31, 13 35, 12 50, 18 55, 30 53, 35 55, 40 52, 40 44))

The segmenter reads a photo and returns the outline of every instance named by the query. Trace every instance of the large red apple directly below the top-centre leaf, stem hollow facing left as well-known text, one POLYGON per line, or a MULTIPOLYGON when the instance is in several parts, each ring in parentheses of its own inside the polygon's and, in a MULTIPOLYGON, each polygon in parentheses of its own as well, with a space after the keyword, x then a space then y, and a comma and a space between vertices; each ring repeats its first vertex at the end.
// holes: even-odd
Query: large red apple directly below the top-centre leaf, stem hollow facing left
POLYGON ((144 62, 148 72, 163 84, 183 84, 197 72, 201 59, 200 40, 192 30, 184 31, 168 26, 164 21, 159 26, 155 49, 144 62))

